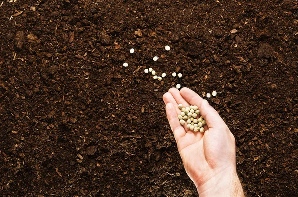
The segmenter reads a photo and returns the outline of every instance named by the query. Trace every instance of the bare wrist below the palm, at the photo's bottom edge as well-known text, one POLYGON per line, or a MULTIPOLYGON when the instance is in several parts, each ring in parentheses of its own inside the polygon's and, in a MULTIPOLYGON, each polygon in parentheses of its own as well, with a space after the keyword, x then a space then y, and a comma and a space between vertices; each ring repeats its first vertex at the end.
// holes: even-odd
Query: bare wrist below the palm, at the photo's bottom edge
POLYGON ((200 197, 244 197, 235 168, 227 168, 196 187, 200 197))

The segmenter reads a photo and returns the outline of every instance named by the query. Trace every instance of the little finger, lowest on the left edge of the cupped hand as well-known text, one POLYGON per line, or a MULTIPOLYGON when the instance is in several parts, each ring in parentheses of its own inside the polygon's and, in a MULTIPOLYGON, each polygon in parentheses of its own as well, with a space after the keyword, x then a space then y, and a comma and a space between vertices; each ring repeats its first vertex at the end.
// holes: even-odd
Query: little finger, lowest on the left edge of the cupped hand
POLYGON ((165 111, 167 119, 169 120, 171 126, 171 130, 173 131, 176 142, 178 143, 181 137, 185 136, 185 129, 180 124, 177 113, 175 111, 175 107, 172 103, 166 104, 165 111))

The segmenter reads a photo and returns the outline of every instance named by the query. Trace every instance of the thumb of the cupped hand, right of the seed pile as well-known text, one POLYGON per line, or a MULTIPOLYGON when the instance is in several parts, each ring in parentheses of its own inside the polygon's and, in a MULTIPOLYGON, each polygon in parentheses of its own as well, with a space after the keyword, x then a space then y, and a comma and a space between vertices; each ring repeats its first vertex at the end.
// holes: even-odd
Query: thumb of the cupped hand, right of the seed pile
POLYGON ((211 107, 205 99, 202 100, 200 105, 200 114, 206 120, 208 128, 223 129, 226 128, 224 120, 220 117, 219 113, 211 107))

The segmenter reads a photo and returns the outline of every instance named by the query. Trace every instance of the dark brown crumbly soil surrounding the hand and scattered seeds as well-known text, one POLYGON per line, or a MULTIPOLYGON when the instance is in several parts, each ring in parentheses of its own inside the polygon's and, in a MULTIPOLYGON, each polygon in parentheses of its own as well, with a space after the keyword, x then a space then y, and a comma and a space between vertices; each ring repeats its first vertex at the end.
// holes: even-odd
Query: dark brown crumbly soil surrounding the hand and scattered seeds
POLYGON ((298 196, 296 0, 13 1, 0 1, 0 196, 197 196, 162 101, 178 82, 218 92, 247 196, 298 196))

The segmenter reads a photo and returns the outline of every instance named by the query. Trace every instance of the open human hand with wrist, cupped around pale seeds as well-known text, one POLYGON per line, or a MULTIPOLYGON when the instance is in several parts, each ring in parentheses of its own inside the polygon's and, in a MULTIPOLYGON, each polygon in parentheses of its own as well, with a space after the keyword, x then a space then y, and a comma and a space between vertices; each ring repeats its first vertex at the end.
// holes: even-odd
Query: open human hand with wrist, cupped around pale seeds
POLYGON ((163 95, 163 100, 185 171, 200 197, 244 197, 236 173, 235 138, 217 111, 188 88, 181 91, 171 88, 163 95), (191 131, 180 124, 180 103, 184 107, 199 107, 207 123, 204 133, 191 131))

